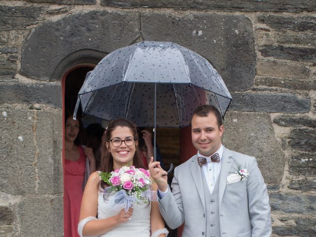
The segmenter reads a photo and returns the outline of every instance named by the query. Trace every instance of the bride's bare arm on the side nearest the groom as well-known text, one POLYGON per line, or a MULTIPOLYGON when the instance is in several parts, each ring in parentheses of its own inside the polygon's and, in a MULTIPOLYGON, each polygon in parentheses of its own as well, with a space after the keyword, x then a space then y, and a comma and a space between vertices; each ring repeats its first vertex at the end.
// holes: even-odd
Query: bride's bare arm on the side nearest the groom
MULTIPOLYGON (((158 186, 155 182, 153 182, 153 191, 158 190, 158 186)), ((151 231, 152 236, 155 231, 164 229, 164 221, 160 215, 159 206, 157 201, 152 201, 152 210, 150 212, 150 223, 151 223, 151 231)), ((165 229, 167 232, 167 230, 165 229)), ((165 233, 165 232, 164 232, 165 233)), ((158 235, 158 237, 166 237, 167 234, 158 235)))

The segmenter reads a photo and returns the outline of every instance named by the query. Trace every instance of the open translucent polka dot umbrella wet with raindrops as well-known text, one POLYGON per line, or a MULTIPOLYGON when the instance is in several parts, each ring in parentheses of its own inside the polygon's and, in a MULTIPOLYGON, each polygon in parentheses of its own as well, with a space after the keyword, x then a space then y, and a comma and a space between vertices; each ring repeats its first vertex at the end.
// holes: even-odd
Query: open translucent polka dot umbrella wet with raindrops
POLYGON ((142 41, 103 58, 85 79, 76 107, 80 102, 83 114, 137 126, 183 127, 197 106, 214 105, 224 117, 231 100, 219 73, 196 52, 142 41))

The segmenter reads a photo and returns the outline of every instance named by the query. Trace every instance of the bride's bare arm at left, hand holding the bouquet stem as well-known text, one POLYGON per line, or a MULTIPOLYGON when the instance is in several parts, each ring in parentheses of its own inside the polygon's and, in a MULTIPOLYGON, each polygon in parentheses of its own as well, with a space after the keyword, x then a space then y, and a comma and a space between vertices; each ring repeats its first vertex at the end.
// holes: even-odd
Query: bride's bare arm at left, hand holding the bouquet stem
MULTIPOLYGON (((94 172, 90 175, 82 196, 79 221, 82 221, 87 217, 97 216, 99 181, 100 178, 98 172, 94 172)), ((102 235, 117 227, 120 223, 128 221, 132 212, 132 208, 128 210, 128 214, 122 209, 116 216, 106 219, 91 220, 84 225, 82 236, 102 235)))

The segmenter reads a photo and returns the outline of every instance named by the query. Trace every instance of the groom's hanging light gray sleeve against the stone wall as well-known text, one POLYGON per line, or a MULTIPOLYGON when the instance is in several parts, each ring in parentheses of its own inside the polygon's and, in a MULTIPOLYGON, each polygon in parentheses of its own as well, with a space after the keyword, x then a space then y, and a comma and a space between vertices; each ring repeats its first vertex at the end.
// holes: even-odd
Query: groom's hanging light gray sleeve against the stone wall
POLYGON ((251 237, 270 237, 272 234, 270 205, 267 186, 255 158, 248 166, 247 195, 249 217, 252 226, 251 237))

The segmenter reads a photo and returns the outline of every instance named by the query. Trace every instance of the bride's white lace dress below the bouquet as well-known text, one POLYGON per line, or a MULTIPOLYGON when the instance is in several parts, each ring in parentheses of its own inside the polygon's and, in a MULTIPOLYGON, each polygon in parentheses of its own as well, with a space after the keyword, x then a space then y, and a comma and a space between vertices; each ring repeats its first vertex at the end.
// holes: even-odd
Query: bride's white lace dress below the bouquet
MULTIPOLYGON (((115 216, 124 208, 124 205, 114 203, 114 196, 108 195, 103 198, 102 191, 99 191, 98 197, 98 219, 105 219, 115 216)), ((101 235, 101 237, 150 237, 150 211, 151 204, 138 205, 133 204, 132 218, 121 223, 114 229, 101 235)))

